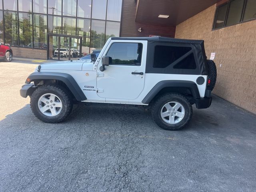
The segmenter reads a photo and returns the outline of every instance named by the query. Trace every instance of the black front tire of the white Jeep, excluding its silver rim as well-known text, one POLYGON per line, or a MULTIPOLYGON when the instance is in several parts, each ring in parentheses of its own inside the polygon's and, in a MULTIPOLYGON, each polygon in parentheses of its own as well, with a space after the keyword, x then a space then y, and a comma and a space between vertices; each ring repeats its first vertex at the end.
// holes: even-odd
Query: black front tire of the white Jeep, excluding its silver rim
POLYGON ((34 115, 41 121, 46 123, 59 123, 64 121, 67 116, 71 113, 73 108, 72 97, 70 92, 66 90, 64 87, 54 84, 48 84, 38 87, 30 97, 30 108, 34 115), (38 100, 39 98, 47 93, 52 93, 58 96, 62 102, 62 110, 56 116, 46 116, 44 115, 38 108, 38 100))

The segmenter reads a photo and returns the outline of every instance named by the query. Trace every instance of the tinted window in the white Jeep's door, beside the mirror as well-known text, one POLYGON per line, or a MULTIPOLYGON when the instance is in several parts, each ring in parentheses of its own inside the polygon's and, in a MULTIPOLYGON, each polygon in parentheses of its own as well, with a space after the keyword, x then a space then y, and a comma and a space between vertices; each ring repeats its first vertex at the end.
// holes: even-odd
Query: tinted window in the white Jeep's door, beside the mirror
POLYGON ((112 58, 110 64, 141 65, 142 43, 113 43, 106 56, 112 58))

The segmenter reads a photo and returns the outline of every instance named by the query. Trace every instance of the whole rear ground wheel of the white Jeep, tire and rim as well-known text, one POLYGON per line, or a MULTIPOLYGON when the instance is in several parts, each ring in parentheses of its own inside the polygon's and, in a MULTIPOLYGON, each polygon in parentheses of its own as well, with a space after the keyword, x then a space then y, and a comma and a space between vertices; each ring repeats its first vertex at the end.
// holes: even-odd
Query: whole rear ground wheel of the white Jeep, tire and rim
POLYGON ((192 106, 182 94, 168 93, 154 102, 151 112, 158 126, 174 131, 188 124, 192 117, 192 106))

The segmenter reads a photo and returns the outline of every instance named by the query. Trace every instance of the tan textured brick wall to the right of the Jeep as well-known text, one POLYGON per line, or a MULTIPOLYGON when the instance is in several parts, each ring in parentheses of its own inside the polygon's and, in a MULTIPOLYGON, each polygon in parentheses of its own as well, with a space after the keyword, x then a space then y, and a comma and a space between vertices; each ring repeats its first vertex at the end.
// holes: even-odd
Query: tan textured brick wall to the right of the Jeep
POLYGON ((175 38, 203 39, 206 56, 216 52, 213 93, 256 114, 256 20, 212 31, 215 8, 176 26, 175 38))

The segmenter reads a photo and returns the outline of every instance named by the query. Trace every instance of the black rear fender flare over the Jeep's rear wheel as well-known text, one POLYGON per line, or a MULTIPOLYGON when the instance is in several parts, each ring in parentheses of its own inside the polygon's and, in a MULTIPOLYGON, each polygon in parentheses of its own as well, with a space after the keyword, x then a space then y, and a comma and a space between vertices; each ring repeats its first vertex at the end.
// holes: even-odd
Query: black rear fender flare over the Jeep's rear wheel
POLYGON ((158 82, 151 90, 148 92, 148 94, 145 96, 145 98, 142 100, 142 103, 149 104, 151 100, 163 89, 168 87, 182 87, 182 88, 188 88, 190 92, 192 93, 192 96, 194 99, 200 98, 200 94, 198 91, 198 88, 196 86, 196 83, 192 81, 183 81, 183 80, 164 80, 158 82))

